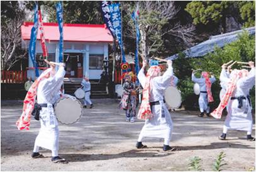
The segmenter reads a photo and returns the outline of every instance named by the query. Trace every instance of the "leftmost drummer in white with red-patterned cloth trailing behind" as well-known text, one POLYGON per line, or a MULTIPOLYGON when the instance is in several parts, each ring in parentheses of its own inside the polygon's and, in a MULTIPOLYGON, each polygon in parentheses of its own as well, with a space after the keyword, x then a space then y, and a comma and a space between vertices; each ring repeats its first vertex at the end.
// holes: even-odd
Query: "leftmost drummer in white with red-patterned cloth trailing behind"
POLYGON ((35 106, 35 98, 41 106, 40 110, 40 132, 35 139, 32 158, 43 157, 39 153, 39 148, 50 149, 52 151, 53 163, 67 163, 64 158, 58 156, 58 122, 54 114, 53 104, 60 98, 60 88, 63 84, 65 69, 61 63, 57 73, 55 65, 50 63, 51 68, 44 71, 35 83, 29 89, 24 100, 23 113, 21 118, 16 122, 18 129, 29 129, 30 116, 35 106))

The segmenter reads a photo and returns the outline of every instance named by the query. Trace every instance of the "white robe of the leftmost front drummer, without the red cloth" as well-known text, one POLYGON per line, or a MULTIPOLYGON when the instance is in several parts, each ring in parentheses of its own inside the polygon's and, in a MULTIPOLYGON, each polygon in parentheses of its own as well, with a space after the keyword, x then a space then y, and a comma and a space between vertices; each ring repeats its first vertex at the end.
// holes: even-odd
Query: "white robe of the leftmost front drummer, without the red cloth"
POLYGON ((47 107, 42 107, 40 111, 41 128, 35 140, 34 152, 42 147, 50 149, 52 156, 58 156, 58 122, 52 105, 60 98, 64 76, 64 67, 60 67, 55 76, 43 79, 38 85, 37 103, 47 104, 47 107))

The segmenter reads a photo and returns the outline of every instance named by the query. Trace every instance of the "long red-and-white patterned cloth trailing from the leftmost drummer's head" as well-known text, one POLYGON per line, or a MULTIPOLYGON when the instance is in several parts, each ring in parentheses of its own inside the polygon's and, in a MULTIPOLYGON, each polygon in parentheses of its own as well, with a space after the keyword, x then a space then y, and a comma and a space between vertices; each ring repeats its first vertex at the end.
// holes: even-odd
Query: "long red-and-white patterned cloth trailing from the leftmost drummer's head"
POLYGON ((30 129, 30 118, 31 113, 35 106, 38 84, 40 83, 40 81, 42 81, 45 78, 49 78, 50 75, 54 73, 55 70, 52 68, 43 71, 43 73, 38 77, 38 79, 36 79, 35 82, 31 85, 30 89, 28 90, 28 93, 26 93, 26 97, 23 101, 23 112, 18 121, 16 121, 16 126, 19 130, 30 129))

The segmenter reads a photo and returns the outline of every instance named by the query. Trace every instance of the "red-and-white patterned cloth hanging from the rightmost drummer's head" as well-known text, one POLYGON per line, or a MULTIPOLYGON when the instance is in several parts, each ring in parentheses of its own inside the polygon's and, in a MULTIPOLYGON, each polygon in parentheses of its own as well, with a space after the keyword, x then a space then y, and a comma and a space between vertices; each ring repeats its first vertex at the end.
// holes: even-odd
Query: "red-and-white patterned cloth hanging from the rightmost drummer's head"
POLYGON ((246 69, 242 69, 242 70, 234 69, 232 71, 232 73, 230 74, 230 81, 228 82, 228 87, 226 89, 226 93, 224 94, 223 98, 221 99, 218 108, 214 109, 214 111, 211 113, 211 116, 213 116, 216 119, 221 118, 223 109, 228 104, 228 100, 230 99, 230 97, 233 94, 233 91, 237 87, 238 79, 245 77, 247 75, 248 75, 248 71, 246 69))

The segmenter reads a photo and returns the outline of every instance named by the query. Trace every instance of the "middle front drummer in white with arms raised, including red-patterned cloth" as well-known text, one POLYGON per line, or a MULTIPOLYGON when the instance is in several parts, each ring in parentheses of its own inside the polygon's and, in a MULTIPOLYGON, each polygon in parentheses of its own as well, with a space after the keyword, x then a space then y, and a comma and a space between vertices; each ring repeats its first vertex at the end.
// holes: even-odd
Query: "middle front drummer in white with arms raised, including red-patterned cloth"
POLYGON ((145 124, 140 132, 136 148, 147 147, 142 144, 143 138, 153 137, 164 138, 164 151, 174 149, 169 146, 173 124, 163 97, 173 76, 172 61, 167 61, 167 64, 169 67, 163 76, 160 76, 159 66, 151 66, 145 76, 144 70, 147 65, 145 62, 138 73, 138 79, 143 87, 143 99, 138 118, 145 119, 145 124))

